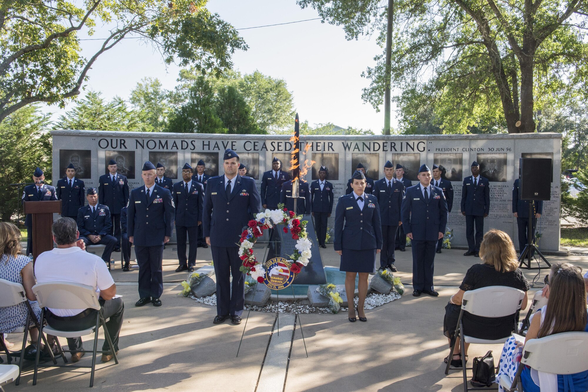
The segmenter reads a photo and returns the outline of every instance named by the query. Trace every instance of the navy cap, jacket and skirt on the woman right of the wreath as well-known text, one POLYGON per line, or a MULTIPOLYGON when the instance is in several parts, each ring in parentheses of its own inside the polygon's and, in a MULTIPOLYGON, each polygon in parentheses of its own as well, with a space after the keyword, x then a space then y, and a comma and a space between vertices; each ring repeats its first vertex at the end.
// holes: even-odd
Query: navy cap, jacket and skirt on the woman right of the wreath
MULTIPOLYGON (((365 179, 356 171, 353 178, 365 179)), ((380 207, 374 195, 339 197, 335 209, 335 251, 342 251, 339 271, 376 272, 376 249, 382 249, 380 207)))

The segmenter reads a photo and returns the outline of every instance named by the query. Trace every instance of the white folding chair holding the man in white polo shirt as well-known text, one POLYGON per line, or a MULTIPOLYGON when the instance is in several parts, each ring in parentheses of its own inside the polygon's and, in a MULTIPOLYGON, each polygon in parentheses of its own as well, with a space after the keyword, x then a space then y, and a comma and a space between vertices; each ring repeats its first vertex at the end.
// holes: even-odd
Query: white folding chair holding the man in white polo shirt
MULTIPOLYGON (((55 336, 55 340, 57 341, 57 336, 59 337, 78 337, 78 336, 85 336, 87 334, 94 334, 94 345, 93 350, 81 350, 80 352, 83 353, 92 353, 92 365, 91 366, 82 366, 82 365, 48 365, 48 366, 39 366, 39 352, 37 351, 37 356, 35 360, 35 374, 33 376, 33 385, 36 385, 36 377, 37 371, 39 367, 85 367, 91 369, 91 376, 90 376, 90 387, 94 384, 94 371, 96 369, 96 355, 98 353, 109 353, 112 354, 115 364, 118 364, 118 359, 116 358, 116 352, 114 346, 112 345, 112 341, 110 339, 110 335, 108 334, 108 329, 106 328, 106 323, 104 317, 102 315, 102 307, 98 302, 98 293, 92 288, 91 286, 81 285, 79 283, 72 283, 72 282, 42 282, 37 283, 33 286, 33 292, 36 295, 36 298, 39 300, 39 306, 42 308, 41 312, 41 323, 45 320, 46 312, 45 307, 51 307, 54 309, 95 309, 96 310, 96 325, 78 331, 62 331, 51 326, 47 325, 45 327, 41 327, 41 332, 46 332, 55 336), (98 328, 102 324, 102 329, 104 331, 104 336, 106 341, 108 341, 108 345, 110 346, 110 351, 102 351, 98 350, 98 328)), ((64 352, 72 352, 72 350, 64 350, 64 352)), ((65 354, 64 354, 65 358, 65 354)))

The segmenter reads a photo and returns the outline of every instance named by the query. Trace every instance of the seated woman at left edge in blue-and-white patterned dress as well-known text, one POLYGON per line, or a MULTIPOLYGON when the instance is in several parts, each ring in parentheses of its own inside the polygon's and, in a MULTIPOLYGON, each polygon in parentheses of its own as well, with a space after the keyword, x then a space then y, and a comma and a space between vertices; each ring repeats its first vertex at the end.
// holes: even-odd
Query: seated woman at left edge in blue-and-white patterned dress
MULTIPOLYGON (((26 298, 31 304, 34 316, 41 319, 41 308, 36 301, 32 287, 35 285, 33 263, 22 254, 21 231, 10 222, 0 222, 0 279, 21 283, 25 289, 26 298)), ((0 307, 0 333, 11 333, 18 327, 24 326, 28 307, 24 302, 15 306, 0 307)), ((29 326, 31 342, 37 342, 39 330, 31 322, 29 326)), ((25 349, 25 357, 34 359, 35 344, 25 349)))

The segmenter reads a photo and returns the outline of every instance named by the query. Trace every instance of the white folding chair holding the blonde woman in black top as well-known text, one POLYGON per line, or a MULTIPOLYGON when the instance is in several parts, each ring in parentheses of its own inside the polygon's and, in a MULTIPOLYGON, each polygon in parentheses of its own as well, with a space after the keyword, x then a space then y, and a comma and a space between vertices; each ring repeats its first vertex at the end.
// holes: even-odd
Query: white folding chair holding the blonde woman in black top
MULTIPOLYGON (((462 310, 459 313, 459 319, 457 319, 457 326, 455 329, 455 340, 457 337, 460 339, 460 353, 462 354, 462 367, 454 367, 452 370, 462 370, 463 372, 463 391, 475 391, 475 390, 489 390, 498 389, 498 387, 472 387, 467 386, 467 371, 471 370, 471 367, 466 367, 466 354, 465 344, 498 344, 504 343, 510 337, 510 333, 516 330, 516 321, 513 319, 513 329, 507 336, 501 339, 489 340, 479 339, 467 335, 467 331, 463 329, 463 313, 468 312, 470 315, 476 315, 481 317, 505 317, 515 314, 520 310, 520 306, 523 302, 524 292, 517 290, 512 287, 506 286, 488 286, 481 289, 469 290, 463 293, 462 299, 462 310)), ((447 360, 447 366, 445 368, 445 374, 449 374, 449 366, 451 364, 451 357, 453 350, 455 349, 455 343, 449 352, 449 360, 447 360)))

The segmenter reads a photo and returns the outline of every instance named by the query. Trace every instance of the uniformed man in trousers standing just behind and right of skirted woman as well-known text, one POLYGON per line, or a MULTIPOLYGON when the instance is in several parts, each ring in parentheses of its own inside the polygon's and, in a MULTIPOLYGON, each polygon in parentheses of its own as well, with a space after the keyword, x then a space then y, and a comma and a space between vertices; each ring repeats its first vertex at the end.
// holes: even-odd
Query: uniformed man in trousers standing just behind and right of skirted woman
POLYGON ((394 247, 396 232, 400 224, 400 207, 404 197, 404 185, 393 178, 394 167, 390 161, 384 165, 386 176, 374 183, 373 195, 380 206, 380 220, 382 221, 382 252, 380 252, 380 269, 389 268, 396 272, 394 262, 394 247))

